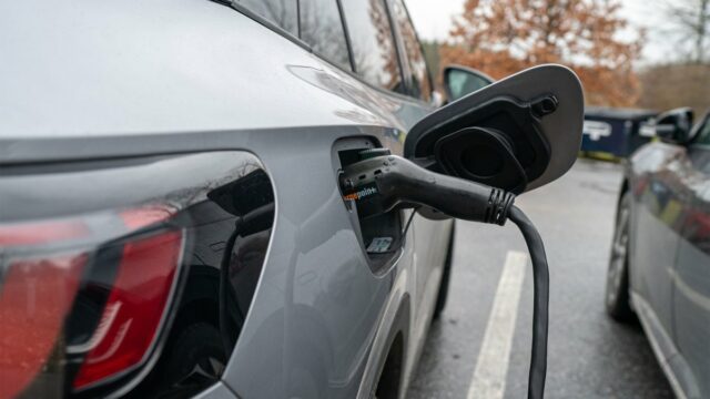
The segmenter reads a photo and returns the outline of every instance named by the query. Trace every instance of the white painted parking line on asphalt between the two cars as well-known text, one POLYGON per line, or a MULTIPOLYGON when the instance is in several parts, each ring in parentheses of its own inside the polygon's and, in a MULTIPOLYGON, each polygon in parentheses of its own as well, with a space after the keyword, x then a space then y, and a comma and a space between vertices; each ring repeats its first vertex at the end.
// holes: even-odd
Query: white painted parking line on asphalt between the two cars
POLYGON ((503 398, 527 263, 528 256, 520 252, 509 250, 506 256, 474 378, 468 387, 468 399, 503 398))

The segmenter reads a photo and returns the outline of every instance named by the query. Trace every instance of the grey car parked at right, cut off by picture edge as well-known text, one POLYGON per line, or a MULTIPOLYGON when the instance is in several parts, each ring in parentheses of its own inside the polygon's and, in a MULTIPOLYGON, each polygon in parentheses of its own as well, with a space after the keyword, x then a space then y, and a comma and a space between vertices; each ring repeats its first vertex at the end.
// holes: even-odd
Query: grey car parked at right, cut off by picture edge
POLYGON ((638 316, 679 398, 710 397, 710 116, 661 114, 626 164, 607 310, 638 316))

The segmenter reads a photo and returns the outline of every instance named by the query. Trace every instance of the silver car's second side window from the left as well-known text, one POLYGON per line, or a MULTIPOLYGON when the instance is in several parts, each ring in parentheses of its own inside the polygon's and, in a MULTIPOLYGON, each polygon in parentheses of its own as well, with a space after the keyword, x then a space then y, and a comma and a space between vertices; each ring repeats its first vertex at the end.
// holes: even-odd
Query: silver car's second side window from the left
POLYGON ((351 60, 337 0, 301 0, 298 18, 301 40, 326 60, 349 70, 351 60))

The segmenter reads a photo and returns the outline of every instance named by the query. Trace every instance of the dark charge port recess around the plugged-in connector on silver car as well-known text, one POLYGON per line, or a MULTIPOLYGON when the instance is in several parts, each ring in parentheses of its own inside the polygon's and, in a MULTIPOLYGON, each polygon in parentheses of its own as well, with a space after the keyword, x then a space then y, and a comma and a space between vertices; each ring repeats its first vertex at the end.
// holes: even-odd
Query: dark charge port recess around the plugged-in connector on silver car
MULTIPOLYGON (((337 141, 333 147, 336 178, 343 167, 361 161, 363 152, 383 150, 374 141, 365 137, 337 141)), ((394 209, 376 216, 362 217, 357 212, 355 201, 346 198, 343 198, 343 201, 349 213, 351 223, 353 223, 354 229, 358 235, 363 252, 367 254, 373 272, 376 273, 388 268, 402 253, 404 244, 403 212, 394 209)))

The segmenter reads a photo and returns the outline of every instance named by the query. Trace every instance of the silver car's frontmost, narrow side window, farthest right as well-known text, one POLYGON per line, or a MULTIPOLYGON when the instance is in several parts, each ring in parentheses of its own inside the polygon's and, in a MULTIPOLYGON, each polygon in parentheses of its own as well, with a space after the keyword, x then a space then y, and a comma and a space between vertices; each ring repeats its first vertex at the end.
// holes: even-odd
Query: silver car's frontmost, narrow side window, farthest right
POLYGON ((395 0, 393 3, 393 19, 397 24, 402 40, 404 41, 404 53, 409 63, 412 73, 410 94, 428 101, 432 98, 432 82, 429 71, 426 68, 426 59, 422 51, 422 45, 414 30, 409 13, 403 0, 395 0))

